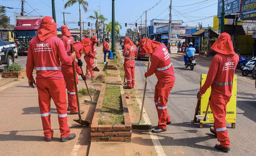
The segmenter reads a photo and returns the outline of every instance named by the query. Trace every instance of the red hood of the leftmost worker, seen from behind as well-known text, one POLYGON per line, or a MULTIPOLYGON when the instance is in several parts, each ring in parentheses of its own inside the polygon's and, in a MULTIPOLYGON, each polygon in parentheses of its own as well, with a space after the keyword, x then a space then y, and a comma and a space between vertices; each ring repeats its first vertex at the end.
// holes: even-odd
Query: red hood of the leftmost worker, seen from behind
POLYGON ((41 24, 37 30, 37 35, 40 41, 45 41, 51 36, 57 36, 57 25, 54 19, 50 16, 42 18, 41 24))

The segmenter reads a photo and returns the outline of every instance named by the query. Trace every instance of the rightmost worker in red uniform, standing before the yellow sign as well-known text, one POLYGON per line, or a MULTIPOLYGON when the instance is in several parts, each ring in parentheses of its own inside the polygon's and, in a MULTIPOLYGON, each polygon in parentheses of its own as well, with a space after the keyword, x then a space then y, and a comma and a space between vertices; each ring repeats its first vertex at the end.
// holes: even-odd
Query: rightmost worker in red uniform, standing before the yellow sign
POLYGON ((214 125, 210 131, 217 135, 220 145, 215 148, 222 151, 230 150, 230 140, 226 127, 227 103, 230 100, 234 71, 236 69, 239 56, 233 50, 230 35, 221 33, 218 40, 211 47, 217 54, 212 58, 211 65, 204 85, 197 93, 197 98, 205 94, 211 86, 210 108, 214 116, 214 125))

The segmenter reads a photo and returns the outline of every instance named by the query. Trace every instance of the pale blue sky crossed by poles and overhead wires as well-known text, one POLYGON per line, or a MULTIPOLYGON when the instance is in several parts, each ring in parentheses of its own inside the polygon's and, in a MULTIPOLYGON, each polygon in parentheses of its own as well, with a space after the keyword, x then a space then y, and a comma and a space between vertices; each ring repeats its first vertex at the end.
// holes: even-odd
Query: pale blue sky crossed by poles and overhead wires
MULTIPOLYGON (((66 3, 67 0, 55 0, 56 7, 56 21, 58 26, 63 25, 63 3, 66 3)), ((11 16, 11 24, 15 24, 13 12, 21 11, 21 1, 20 0, 0 0, 0 5, 13 7, 15 9, 7 9, 7 16, 11 16), (16 9, 18 8, 18 9, 16 9)), ((111 21, 111 0, 87 0, 89 3, 88 10, 101 10, 101 14, 104 14, 108 18, 108 22, 111 21), (97 3, 100 4, 100 8, 97 6, 97 3)), ((169 6, 170 0, 163 0, 163 2, 169 6)), ((129 25, 125 27, 124 23, 132 23, 135 20, 139 19, 137 23, 140 23, 141 20, 139 16, 143 14, 145 10, 148 10, 156 5, 151 10, 147 11, 147 24, 150 24, 150 20, 157 17, 157 19, 169 20, 169 10, 166 8, 164 3, 158 0, 115 0, 115 19, 119 21, 122 25, 122 30, 120 32, 123 35, 126 32, 126 29, 129 28, 129 25), (159 3, 158 3, 159 2, 159 3)), ((52 16, 51 12, 51 0, 26 0, 25 1, 25 12, 29 13, 34 9, 36 10, 31 13, 31 15, 42 15, 42 16, 52 16)), ((173 0, 172 1, 172 20, 183 20, 183 25, 186 24, 189 26, 196 26, 198 22, 202 22, 202 26, 208 26, 213 23, 213 17, 217 15, 217 0, 173 0), (205 1, 205 2, 202 2, 205 1), (202 2, 202 3, 199 3, 202 2), (198 3, 198 4, 195 4, 198 3), (195 5, 190 5, 195 4, 195 5), (184 6, 189 5, 189 6, 184 6), (183 6, 183 7, 179 7, 183 6), (207 18, 209 17, 209 18, 207 18), (206 19, 204 19, 206 18, 206 19), (200 20, 202 19, 202 20, 200 20), (199 21, 197 21, 199 20, 199 21)), ((78 5, 74 5, 70 8, 65 9, 65 12, 70 12, 71 14, 65 14, 66 22, 78 22, 79 21, 79 8, 78 5)), ((99 11, 98 11, 99 12, 99 11)), ((26 15, 26 14, 25 14, 26 15)), ((84 22, 95 23, 93 20, 87 20, 89 15, 93 15, 93 11, 85 13, 82 11, 82 20, 84 22)), ((145 13, 142 16, 142 23, 145 23, 145 13)), ((68 24, 69 28, 78 28, 77 24, 68 24)), ((85 24, 84 28, 88 28, 85 24)))

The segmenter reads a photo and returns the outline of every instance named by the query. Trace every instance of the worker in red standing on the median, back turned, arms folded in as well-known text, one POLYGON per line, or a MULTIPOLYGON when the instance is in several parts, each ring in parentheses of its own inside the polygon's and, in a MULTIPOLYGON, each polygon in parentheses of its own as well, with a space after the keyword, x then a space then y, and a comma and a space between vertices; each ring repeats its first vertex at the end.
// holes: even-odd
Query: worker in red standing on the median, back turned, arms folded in
POLYGON ((135 56, 137 56, 137 47, 128 37, 124 38, 124 72, 127 80, 127 86, 124 89, 132 89, 135 85, 135 56))

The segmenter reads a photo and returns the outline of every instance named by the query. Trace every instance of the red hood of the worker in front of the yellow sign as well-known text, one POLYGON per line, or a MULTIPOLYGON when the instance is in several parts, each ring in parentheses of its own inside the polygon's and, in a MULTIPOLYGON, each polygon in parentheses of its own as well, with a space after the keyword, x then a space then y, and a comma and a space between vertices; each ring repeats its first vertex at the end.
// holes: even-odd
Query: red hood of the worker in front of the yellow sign
POLYGON ((230 35, 228 33, 221 33, 218 40, 214 42, 211 49, 225 55, 236 54, 234 52, 233 43, 231 41, 230 35))

